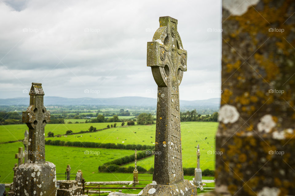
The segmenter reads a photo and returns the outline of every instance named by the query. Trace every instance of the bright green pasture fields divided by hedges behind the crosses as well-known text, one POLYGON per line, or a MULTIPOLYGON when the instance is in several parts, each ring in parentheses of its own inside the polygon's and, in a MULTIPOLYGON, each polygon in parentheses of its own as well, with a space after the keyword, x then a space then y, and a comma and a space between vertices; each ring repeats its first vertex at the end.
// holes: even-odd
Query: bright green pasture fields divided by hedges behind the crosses
MULTIPOLYGON (((76 120, 76 119, 74 119, 76 120)), ((105 128, 111 123, 79 123, 79 124, 47 124, 45 126, 45 134, 52 131, 56 134, 65 134, 66 130, 79 132, 88 130, 90 126, 96 129, 105 128)), ((120 143, 120 144, 141 144, 154 145, 155 142, 155 124, 153 125, 135 125, 121 126, 101 130, 92 133, 68 135, 68 137, 45 138, 46 140, 63 140, 63 141, 81 141, 100 142, 100 143, 120 143), (78 138, 78 136, 80 136, 78 138), (117 139, 118 138, 118 139, 117 139), (124 142, 124 143, 122 143, 124 142)), ((213 170, 215 166, 215 155, 207 154, 207 151, 215 150, 215 133, 218 123, 213 122, 185 122, 181 123, 182 131, 182 153, 183 167, 196 167, 197 156, 196 147, 200 145, 201 169, 213 170), (207 138, 205 140, 205 138, 207 138)), ((15 141, 23 139, 24 130, 27 129, 25 124, 22 125, 5 125, 0 126, 2 137, 0 142, 15 141)), ((13 142, 0 144, 2 158, 0 160, 0 183, 11 183, 13 178, 13 166, 17 163, 14 154, 18 152, 18 147, 22 147, 22 142, 13 142)), ((121 149, 102 149, 102 148, 82 148, 68 146, 52 146, 46 145, 46 161, 53 162, 56 165, 57 173, 64 173, 67 164, 71 165, 71 173, 76 173, 78 169, 83 171, 86 181, 123 181, 132 180, 132 173, 100 173, 98 166, 122 156, 131 155, 133 150, 121 149), (97 155, 85 154, 84 151, 99 152, 97 155)), ((138 160, 137 165, 147 170, 154 167, 154 156, 138 160)), ((125 164, 123 166, 134 166, 134 163, 125 164)), ((185 179, 191 180, 193 176, 185 176, 185 179)), ((208 177, 214 179, 214 177, 208 177)), ((57 178, 63 179, 63 178, 57 178)), ((141 179, 151 180, 151 177, 142 177, 141 179)), ((206 179, 204 177, 204 179, 206 179)), ((144 181, 144 183, 151 183, 144 181)), ((214 187, 214 183, 207 183, 206 187, 214 187)), ((118 190, 117 190, 118 191, 118 190)), ((138 193, 140 190, 123 190, 124 193, 138 193)), ((103 195, 103 194, 101 194, 103 195)), ((106 194, 107 195, 107 194, 106 194)))

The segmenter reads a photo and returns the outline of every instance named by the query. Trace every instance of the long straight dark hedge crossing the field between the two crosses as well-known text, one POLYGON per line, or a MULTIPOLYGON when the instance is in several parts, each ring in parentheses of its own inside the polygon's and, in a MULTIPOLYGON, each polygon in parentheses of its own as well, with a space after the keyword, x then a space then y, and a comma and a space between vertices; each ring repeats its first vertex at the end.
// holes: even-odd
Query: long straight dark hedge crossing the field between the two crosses
MULTIPOLYGON (((154 149, 155 146, 149 145, 135 145, 135 144, 114 144, 114 143, 99 143, 99 142, 81 142, 81 141, 60 141, 60 140, 46 140, 47 145, 56 146, 76 146, 76 147, 87 147, 87 148, 106 148, 106 149, 126 149, 126 150, 146 150, 154 149)), ((138 156, 138 155, 137 155, 138 156)), ((134 160, 134 159, 133 159, 134 160)))

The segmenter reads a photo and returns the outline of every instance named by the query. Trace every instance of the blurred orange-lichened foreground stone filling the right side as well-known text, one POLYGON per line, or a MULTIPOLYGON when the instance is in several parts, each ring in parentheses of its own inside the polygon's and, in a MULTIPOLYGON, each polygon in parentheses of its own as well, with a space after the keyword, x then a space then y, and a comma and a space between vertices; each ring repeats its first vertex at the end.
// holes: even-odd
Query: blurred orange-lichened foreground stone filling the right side
POLYGON ((222 7, 215 195, 295 195, 295 2, 222 7))

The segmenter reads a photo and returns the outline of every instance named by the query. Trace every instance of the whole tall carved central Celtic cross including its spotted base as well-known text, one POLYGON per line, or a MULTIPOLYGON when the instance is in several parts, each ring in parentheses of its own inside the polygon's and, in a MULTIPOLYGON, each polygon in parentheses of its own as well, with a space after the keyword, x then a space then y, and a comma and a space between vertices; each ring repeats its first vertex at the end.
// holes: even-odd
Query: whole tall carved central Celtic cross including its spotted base
POLYGON ((153 183, 139 195, 197 195, 183 179, 179 85, 187 70, 187 51, 177 32, 177 20, 159 18, 160 27, 148 42, 147 65, 158 85, 153 183))

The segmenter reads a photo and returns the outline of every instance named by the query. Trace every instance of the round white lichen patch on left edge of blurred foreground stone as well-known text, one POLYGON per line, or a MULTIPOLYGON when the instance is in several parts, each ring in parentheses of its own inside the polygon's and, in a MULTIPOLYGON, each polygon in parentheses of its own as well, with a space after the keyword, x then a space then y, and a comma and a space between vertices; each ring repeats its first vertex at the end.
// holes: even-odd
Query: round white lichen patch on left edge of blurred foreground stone
POLYGON ((232 105, 224 105, 220 108, 218 121, 224 124, 235 123, 239 119, 239 112, 232 105))

